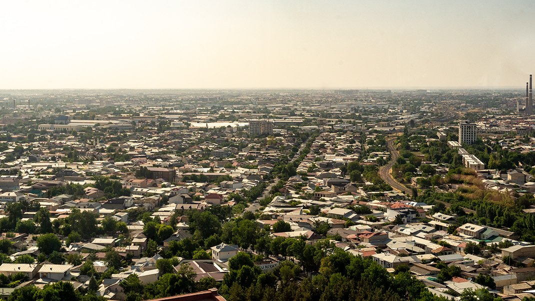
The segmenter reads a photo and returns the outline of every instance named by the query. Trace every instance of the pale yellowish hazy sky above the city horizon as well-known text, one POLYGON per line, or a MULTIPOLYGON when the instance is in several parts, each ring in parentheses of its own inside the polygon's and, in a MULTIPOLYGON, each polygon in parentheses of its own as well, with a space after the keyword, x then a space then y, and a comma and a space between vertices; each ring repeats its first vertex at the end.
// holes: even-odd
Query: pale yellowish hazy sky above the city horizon
POLYGON ((0 89, 522 89, 535 2, 3 0, 0 38, 0 89))

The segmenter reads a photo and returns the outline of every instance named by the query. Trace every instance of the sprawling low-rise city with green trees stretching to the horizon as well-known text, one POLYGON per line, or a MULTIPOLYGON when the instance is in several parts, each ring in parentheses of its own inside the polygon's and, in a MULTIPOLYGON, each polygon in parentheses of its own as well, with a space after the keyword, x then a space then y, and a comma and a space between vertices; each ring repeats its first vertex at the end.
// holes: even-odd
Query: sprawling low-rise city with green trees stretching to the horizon
POLYGON ((531 97, 2 90, 2 297, 532 300, 531 97))

